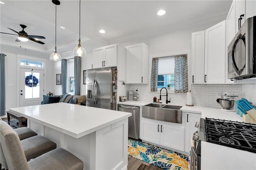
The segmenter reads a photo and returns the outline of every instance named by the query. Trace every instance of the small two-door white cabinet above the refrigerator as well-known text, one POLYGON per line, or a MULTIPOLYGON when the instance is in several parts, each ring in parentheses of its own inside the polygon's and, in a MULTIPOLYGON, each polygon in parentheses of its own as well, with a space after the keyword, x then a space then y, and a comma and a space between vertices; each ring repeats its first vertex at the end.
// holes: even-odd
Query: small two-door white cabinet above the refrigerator
POLYGON ((117 44, 93 49, 93 68, 117 66, 117 44))

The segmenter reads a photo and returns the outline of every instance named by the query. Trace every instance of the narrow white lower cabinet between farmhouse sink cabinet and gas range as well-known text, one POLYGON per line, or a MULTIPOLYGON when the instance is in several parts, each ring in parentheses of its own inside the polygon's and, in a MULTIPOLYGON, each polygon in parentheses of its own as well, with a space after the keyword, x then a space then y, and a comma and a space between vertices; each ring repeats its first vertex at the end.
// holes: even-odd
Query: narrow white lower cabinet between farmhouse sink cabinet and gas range
POLYGON ((200 122, 201 114, 197 113, 186 113, 186 135, 185 135, 185 152, 190 151, 191 148, 191 137, 196 132, 196 122, 200 122))

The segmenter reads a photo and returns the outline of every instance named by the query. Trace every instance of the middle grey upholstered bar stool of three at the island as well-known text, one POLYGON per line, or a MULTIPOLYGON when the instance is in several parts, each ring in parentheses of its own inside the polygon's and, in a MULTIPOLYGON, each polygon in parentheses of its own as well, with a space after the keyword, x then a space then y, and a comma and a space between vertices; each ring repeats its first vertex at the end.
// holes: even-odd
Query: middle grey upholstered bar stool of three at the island
MULTIPOLYGON (((2 124, 8 125, 4 121, 0 121, 0 122, 2 124)), ((10 127, 10 126, 8 125, 8 127, 10 127)), ((1 141, 0 141, 1 146, 2 146, 2 143, 3 142, 2 142, 2 139, 1 139, 1 141)), ((24 140, 21 140, 20 143, 22 145, 22 149, 23 149, 24 154, 26 156, 26 160, 30 160, 32 158, 36 158, 36 157, 38 157, 38 156, 40 156, 40 155, 42 155, 42 154, 44 154, 46 152, 49 152, 50 150, 55 149, 56 146, 57 146, 56 143, 53 142, 52 140, 50 140, 50 139, 48 139, 48 138, 46 138, 44 136, 40 136, 40 135, 32 136, 30 138, 26 138, 24 140)), ((13 147, 15 147, 15 146, 13 146, 13 147)), ((1 150, 0 163, 2 164, 2 166, 4 166, 5 169, 7 169, 8 168, 8 164, 6 163, 5 156, 3 156, 2 153, 3 153, 3 151, 1 150)))

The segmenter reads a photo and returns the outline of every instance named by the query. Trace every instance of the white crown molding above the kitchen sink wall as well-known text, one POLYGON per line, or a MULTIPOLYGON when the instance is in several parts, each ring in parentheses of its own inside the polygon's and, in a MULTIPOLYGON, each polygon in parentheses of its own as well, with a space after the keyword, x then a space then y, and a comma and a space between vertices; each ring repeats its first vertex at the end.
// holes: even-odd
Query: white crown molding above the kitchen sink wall
POLYGON ((154 30, 154 31, 147 31, 147 32, 140 32, 138 34, 132 34, 130 36, 125 36, 122 38, 116 38, 116 39, 112 39, 112 40, 108 40, 108 44, 113 44, 113 43, 123 43, 123 42, 128 42, 128 41, 132 41, 132 40, 136 40, 136 39, 141 39, 141 38, 146 38, 146 37, 150 37, 150 36, 156 36, 159 34, 165 34, 165 33, 169 33, 169 32, 174 32, 176 30, 181 30, 184 28, 190 28, 193 26, 199 26, 199 25, 204 25, 204 24, 209 24, 209 23, 216 23, 216 22, 220 22, 222 20, 225 20, 227 16, 227 11, 222 11, 219 12, 218 14, 214 14, 211 16, 205 16, 203 20, 192 20, 189 24, 183 24, 183 25, 178 25, 175 27, 165 27, 165 28, 161 28, 158 30, 154 30))

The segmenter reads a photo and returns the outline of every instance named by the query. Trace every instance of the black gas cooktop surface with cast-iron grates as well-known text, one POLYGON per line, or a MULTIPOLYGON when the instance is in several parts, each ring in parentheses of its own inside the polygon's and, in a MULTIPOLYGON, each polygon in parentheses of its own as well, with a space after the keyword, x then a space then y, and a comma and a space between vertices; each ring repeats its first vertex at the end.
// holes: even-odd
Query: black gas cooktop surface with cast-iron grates
POLYGON ((206 141, 256 153, 256 125, 205 119, 206 141))

